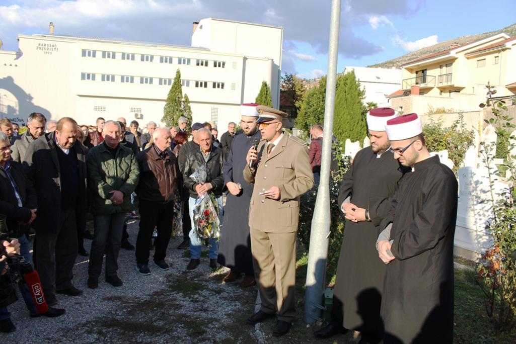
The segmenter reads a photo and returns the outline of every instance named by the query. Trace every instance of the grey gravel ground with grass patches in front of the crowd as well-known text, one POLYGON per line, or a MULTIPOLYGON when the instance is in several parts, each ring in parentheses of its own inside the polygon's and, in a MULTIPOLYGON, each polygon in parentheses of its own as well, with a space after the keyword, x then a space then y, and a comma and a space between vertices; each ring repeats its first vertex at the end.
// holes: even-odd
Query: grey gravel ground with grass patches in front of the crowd
MULTIPOLYGON (((128 225, 132 243, 136 240, 137 224, 133 221, 128 225)), ((176 249, 181 239, 170 241, 166 260, 171 269, 162 271, 151 264, 152 274, 148 276, 136 272, 134 251, 120 250, 119 276, 124 285, 119 288, 107 284, 101 277, 97 289, 88 289, 88 259, 78 256, 73 283, 83 289, 84 294, 79 297, 57 296, 59 302, 56 307, 65 308, 67 313, 59 318, 30 318, 20 297, 9 306, 17 331, 2 334, 2 337, 5 341, 22 343, 297 344, 314 341, 313 329, 302 324, 301 304, 298 305, 295 326, 282 338, 271 336, 275 324, 272 320, 248 325, 245 321, 254 312, 257 288, 243 289, 238 283, 222 283, 228 269, 212 271, 208 266, 206 248, 203 249, 201 265, 196 270, 187 271, 189 253, 176 249)), ((90 240, 85 240, 87 251, 90 244, 90 240)), ((299 289, 300 295, 302 292, 302 288, 299 289)), ((347 338, 341 339, 338 342, 348 342, 347 338)))

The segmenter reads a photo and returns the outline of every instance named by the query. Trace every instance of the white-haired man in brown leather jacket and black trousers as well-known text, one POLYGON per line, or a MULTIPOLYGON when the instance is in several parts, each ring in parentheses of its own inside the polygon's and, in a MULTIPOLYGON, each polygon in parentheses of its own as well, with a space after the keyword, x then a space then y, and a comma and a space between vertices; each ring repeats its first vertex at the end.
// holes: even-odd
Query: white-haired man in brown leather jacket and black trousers
POLYGON ((169 265, 165 261, 168 242, 172 233, 174 192, 179 188, 181 176, 178 161, 172 153, 172 138, 167 128, 157 128, 152 134, 154 144, 138 153, 140 182, 136 188, 140 212, 140 231, 136 239, 136 270, 149 275, 149 240, 154 227, 158 236, 154 240, 154 264, 162 270, 169 265))

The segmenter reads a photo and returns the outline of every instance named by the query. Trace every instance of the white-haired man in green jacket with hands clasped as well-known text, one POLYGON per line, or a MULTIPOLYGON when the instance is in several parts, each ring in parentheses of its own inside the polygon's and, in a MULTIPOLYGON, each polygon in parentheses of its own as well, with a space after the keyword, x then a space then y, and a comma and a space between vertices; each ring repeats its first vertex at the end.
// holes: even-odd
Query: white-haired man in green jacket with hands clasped
POLYGON ((107 121, 102 135, 104 142, 93 147, 86 159, 94 226, 88 266, 89 288, 99 286, 104 252, 106 282, 115 287, 123 284, 117 275, 118 252, 125 215, 133 210, 131 193, 140 174, 133 152, 120 144, 120 124, 107 121))

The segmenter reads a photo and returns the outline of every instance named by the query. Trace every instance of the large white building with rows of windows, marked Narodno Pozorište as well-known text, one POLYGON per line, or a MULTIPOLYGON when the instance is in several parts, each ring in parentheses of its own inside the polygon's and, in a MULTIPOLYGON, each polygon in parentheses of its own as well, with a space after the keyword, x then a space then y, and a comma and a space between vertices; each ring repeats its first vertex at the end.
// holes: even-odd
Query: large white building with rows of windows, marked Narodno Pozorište
POLYGON ((0 51, 0 112, 18 123, 34 111, 79 124, 159 123, 178 69, 194 122, 224 132, 262 81, 279 106, 281 27, 206 18, 193 24, 191 46, 52 34, 18 41, 18 52, 0 51))

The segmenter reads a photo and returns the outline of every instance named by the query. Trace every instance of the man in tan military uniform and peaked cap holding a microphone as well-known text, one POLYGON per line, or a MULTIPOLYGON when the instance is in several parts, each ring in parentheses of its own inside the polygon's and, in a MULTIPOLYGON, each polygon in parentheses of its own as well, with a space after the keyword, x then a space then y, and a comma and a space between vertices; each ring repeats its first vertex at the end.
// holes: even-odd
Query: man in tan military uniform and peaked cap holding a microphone
POLYGON ((284 134, 283 111, 259 105, 263 141, 249 150, 244 179, 254 184, 249 211, 254 276, 262 305, 247 322, 277 317, 274 336, 292 326, 296 313, 296 231, 299 196, 314 185, 307 144, 284 134), (252 162, 252 167, 250 163, 252 162), (270 219, 274 219, 270 221, 270 219))

